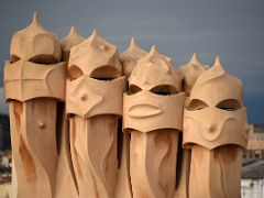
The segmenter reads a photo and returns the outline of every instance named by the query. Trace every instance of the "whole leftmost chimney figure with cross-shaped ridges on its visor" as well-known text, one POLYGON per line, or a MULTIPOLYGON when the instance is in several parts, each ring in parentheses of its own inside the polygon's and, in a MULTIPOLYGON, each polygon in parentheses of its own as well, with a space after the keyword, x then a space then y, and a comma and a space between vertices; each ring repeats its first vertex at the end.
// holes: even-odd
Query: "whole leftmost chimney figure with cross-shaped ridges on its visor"
POLYGON ((57 164, 57 101, 65 99, 65 63, 58 38, 45 30, 37 14, 11 41, 4 66, 10 108, 16 197, 52 198, 57 164))

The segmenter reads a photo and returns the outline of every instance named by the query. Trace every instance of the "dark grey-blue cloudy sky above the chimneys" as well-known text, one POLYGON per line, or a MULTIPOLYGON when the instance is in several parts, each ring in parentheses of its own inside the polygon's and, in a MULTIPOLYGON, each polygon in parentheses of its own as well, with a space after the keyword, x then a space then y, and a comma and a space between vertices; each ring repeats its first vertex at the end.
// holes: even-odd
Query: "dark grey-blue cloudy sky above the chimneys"
MULTIPOLYGON (((87 37, 94 29, 123 52, 135 37, 155 44, 176 67, 197 53, 243 80, 249 122, 264 123, 263 0, 3 0, 0 4, 0 87, 12 34, 37 11, 41 23, 63 37, 75 25, 87 37)), ((0 88, 0 112, 8 112, 0 88)))

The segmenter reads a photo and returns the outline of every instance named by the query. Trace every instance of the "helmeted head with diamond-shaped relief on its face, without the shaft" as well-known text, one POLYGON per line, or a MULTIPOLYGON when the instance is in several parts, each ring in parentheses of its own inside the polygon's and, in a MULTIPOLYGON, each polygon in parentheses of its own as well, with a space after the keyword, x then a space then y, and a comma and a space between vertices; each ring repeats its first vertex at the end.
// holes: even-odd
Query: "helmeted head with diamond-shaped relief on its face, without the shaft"
POLYGON ((70 50, 67 74, 68 116, 122 114, 125 77, 118 51, 96 31, 70 50))

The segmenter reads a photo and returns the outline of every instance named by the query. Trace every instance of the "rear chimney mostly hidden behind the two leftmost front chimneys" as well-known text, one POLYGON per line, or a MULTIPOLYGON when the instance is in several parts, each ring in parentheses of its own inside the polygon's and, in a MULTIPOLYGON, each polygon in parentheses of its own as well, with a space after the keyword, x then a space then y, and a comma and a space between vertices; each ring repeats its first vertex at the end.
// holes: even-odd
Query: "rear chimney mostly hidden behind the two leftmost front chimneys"
MULTIPOLYGON (((62 46, 62 59, 68 63, 69 51, 73 46, 81 43, 85 38, 80 36, 75 26, 59 43, 62 46)), ((59 103, 59 122, 57 122, 58 162, 56 168, 55 198, 77 198, 77 185, 70 157, 68 120, 66 119, 65 102, 59 103)))

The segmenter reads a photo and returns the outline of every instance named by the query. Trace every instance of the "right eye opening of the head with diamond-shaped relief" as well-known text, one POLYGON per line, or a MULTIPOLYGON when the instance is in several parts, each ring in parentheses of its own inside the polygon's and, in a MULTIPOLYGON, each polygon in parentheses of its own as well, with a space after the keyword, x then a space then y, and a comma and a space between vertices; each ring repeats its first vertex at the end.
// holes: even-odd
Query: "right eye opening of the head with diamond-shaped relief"
POLYGON ((98 80, 112 80, 121 76, 120 72, 112 66, 105 65, 91 72, 90 77, 98 80))

